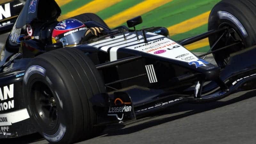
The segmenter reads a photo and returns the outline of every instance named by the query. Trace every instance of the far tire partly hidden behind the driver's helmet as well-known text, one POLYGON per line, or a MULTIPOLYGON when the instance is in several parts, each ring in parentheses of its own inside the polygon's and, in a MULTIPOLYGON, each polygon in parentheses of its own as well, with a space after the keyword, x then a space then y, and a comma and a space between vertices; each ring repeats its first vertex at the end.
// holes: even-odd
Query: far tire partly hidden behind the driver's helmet
POLYGON ((104 20, 102 20, 98 15, 94 14, 94 13, 83 13, 77 16, 72 17, 71 19, 76 19, 76 20, 80 20, 83 23, 86 21, 96 21, 99 24, 101 24, 102 26, 105 26, 108 28, 108 25, 104 22, 104 20))

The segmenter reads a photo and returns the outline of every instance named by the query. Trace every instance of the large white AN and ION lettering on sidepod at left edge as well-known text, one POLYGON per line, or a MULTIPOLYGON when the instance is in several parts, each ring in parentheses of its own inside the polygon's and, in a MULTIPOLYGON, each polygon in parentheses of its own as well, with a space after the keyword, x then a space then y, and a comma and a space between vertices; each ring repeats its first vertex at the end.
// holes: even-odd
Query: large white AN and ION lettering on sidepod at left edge
MULTIPOLYGON (((9 86, 4 86, 0 88, 0 111, 8 110, 14 108, 14 100, 13 100, 13 88, 14 84, 10 84, 9 86), (6 101, 8 100, 8 101, 6 101), (5 101, 5 102, 2 102, 5 101)), ((1 119, 0 122, 3 122, 4 119, 1 119)), ((7 122, 7 118, 6 118, 7 122)))

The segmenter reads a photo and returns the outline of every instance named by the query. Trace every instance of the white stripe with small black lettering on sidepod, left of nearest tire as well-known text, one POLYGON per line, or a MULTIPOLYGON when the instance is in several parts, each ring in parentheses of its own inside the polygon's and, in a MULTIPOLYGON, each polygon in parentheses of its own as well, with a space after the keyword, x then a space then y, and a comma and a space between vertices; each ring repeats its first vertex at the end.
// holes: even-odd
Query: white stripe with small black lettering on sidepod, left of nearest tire
POLYGON ((27 108, 20 109, 14 112, 0 114, 0 126, 12 125, 14 123, 26 120, 29 118, 27 108))

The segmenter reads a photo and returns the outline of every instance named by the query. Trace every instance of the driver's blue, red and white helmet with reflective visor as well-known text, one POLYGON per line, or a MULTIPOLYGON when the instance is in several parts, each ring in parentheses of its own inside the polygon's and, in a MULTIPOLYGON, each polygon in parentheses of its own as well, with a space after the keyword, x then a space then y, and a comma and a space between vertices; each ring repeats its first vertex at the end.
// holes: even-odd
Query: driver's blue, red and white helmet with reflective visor
POLYGON ((79 20, 67 19, 60 21, 52 31, 52 44, 61 42, 63 46, 81 44, 85 35, 86 26, 79 20))

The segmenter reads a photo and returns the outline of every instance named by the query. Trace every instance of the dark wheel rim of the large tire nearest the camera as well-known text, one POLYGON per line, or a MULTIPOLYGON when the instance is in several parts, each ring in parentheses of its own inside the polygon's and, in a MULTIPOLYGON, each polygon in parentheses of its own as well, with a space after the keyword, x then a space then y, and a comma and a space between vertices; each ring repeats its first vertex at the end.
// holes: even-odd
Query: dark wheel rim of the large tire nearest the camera
POLYGON ((36 120, 46 130, 53 130, 58 124, 57 102, 50 87, 35 82, 31 88, 31 110, 36 120))

